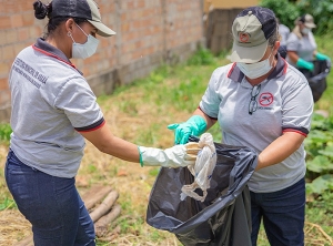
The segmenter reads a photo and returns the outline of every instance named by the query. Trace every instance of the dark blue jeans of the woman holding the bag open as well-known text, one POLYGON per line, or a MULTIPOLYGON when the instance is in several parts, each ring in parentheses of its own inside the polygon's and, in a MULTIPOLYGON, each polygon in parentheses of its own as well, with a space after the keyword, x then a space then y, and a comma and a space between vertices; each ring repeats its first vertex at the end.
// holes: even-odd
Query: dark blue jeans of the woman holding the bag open
POLYGON ((252 245, 256 245, 261 219, 272 246, 303 246, 305 181, 273 193, 251 192, 252 245))

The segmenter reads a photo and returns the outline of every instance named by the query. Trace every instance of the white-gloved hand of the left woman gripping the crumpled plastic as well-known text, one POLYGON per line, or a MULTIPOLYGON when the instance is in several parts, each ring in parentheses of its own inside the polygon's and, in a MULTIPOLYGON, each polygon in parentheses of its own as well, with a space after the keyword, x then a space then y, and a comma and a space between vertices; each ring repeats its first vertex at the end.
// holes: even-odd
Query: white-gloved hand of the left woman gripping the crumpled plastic
POLYGON ((181 167, 195 164, 199 143, 174 145, 167 150, 138 146, 141 166, 181 167))

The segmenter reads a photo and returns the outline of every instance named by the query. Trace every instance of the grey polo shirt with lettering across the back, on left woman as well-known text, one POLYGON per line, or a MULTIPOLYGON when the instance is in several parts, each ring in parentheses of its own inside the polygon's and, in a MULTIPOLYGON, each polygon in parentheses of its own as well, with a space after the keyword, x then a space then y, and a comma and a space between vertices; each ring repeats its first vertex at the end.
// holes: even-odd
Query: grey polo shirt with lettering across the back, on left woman
POLYGON ((79 132, 104 124, 82 73, 60 50, 38 39, 16 58, 9 85, 10 147, 18 158, 53 176, 75 176, 85 145, 79 132))

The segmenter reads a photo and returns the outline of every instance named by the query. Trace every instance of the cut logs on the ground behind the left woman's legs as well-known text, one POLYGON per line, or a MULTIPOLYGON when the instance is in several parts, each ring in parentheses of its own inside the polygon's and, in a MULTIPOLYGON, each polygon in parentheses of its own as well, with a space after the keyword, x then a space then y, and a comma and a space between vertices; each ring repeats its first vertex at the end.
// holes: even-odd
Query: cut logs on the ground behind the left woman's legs
MULTIPOLYGON (((103 237, 110 234, 109 226, 120 215, 121 206, 117 204, 118 197, 119 194, 117 191, 109 186, 100 185, 92 186, 81 196, 94 223, 97 237, 103 237)), ((112 230, 111 237, 109 238, 112 238, 112 234, 117 233, 119 233, 119 227, 112 230)), ((17 246, 33 246, 32 235, 19 242, 17 246)))

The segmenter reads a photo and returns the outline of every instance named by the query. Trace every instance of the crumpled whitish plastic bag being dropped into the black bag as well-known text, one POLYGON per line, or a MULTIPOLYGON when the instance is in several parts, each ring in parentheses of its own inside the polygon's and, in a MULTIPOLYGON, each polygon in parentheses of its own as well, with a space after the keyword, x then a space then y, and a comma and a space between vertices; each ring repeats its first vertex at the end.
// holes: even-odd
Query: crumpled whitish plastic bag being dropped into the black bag
POLYGON ((203 133, 200 136, 198 147, 200 152, 198 153, 195 163, 188 166, 194 177, 194 182, 182 187, 181 201, 185 199, 186 196, 190 196, 196 201, 203 202, 206 197, 206 189, 211 184, 212 174, 216 165, 216 150, 212 134, 203 133), (195 193, 196 188, 202 191, 202 196, 195 193))

